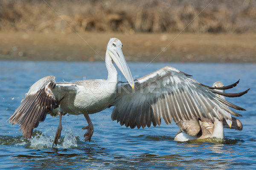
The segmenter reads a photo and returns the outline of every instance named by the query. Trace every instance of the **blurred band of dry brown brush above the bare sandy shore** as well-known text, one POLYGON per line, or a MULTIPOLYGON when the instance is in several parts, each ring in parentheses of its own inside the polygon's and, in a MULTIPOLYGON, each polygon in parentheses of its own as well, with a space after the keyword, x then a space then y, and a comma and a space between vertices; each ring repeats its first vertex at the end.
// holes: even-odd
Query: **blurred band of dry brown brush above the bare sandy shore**
POLYGON ((210 0, 45 2, 1 0, 0 31, 72 32, 64 19, 78 32, 177 32, 195 18, 185 32, 256 33, 255 0, 213 0, 210 4, 210 0))

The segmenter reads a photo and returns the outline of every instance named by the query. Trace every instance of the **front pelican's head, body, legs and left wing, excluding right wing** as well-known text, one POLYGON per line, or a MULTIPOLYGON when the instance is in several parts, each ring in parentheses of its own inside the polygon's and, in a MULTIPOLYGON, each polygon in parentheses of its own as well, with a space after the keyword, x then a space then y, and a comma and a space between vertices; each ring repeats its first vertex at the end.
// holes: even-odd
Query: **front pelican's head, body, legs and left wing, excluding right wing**
POLYGON ((111 38, 105 57, 108 79, 56 83, 54 76, 44 77, 30 87, 21 105, 9 118, 9 122, 18 123, 25 139, 30 139, 33 129, 38 127, 39 122, 44 121, 46 114, 55 116, 57 111, 59 125, 53 141, 53 144, 57 145, 62 130, 61 116, 66 113, 84 114, 88 122, 88 126, 82 128, 87 129, 84 134, 84 137, 87 137, 84 140, 90 141, 93 135, 93 124, 88 114, 97 113, 109 107, 116 96, 118 79, 113 61, 134 88, 131 71, 122 53, 122 43, 116 38, 111 38))

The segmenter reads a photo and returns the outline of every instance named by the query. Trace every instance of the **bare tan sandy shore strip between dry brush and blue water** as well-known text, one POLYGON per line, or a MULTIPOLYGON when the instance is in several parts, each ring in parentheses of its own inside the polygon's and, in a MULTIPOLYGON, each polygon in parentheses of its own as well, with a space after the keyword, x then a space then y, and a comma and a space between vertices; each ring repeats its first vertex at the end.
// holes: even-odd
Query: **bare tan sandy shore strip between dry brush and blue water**
POLYGON ((256 34, 0 32, 0 59, 102 61, 110 37, 127 61, 256 62, 256 34))

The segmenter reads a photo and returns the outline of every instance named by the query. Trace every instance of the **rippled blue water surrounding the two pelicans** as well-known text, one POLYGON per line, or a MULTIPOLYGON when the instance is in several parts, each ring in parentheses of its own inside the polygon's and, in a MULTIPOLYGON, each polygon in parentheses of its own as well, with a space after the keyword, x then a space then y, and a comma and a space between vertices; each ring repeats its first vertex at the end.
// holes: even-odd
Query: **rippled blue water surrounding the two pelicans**
MULTIPOLYGON (((248 94, 227 100, 246 108, 239 111, 243 130, 225 129, 226 139, 175 142, 175 124, 130 129, 111 121, 111 111, 90 116, 94 125, 91 142, 84 142, 87 125, 83 115, 63 116, 59 144, 52 148, 58 117, 47 116, 23 139, 18 125, 6 120, 20 105, 28 88, 41 77, 54 75, 56 82, 107 77, 104 62, 0 61, 0 169, 255 169, 256 168, 256 65, 212 63, 128 63, 134 78, 166 65, 175 67, 205 85, 224 85, 241 79, 237 93, 248 94)), ((120 79, 124 80, 120 76, 120 79)))

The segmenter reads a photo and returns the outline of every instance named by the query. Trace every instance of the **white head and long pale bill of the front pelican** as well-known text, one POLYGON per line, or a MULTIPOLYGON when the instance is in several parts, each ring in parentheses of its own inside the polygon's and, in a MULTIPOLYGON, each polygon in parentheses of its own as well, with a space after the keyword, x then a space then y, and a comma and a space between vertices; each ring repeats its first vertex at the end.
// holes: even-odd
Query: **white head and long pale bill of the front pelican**
POLYGON ((128 83, 131 85, 131 88, 134 89, 134 80, 127 62, 125 61, 124 54, 122 53, 122 42, 117 38, 111 38, 108 42, 107 54, 116 63, 116 66, 125 76, 128 83))

